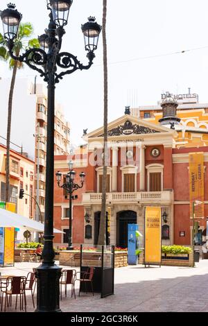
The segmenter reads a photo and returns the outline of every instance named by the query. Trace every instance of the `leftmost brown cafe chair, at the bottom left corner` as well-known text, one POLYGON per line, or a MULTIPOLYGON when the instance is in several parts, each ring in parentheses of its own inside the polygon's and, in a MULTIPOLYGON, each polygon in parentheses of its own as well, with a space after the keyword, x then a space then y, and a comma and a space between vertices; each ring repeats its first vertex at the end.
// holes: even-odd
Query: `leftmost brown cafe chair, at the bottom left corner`
POLYGON ((6 306, 12 305, 12 295, 16 295, 16 304, 15 310, 17 310, 17 298, 18 295, 20 297, 20 310, 23 310, 23 303, 24 309, 26 311, 26 277, 25 276, 12 276, 7 277, 6 279, 6 286, 1 289, 1 311, 3 309, 3 295, 5 294, 5 303, 4 303, 4 311, 6 311, 6 306))

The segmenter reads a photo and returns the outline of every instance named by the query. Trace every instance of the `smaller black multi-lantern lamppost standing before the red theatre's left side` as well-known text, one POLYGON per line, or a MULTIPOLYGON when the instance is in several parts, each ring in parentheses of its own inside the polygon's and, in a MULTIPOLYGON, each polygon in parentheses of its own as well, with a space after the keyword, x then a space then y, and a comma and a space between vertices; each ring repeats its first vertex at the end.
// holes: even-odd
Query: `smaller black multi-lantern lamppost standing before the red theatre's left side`
POLYGON ((73 191, 83 187, 84 182, 85 182, 85 173, 84 172, 80 173, 81 184, 78 185, 77 183, 75 183, 74 178, 75 178, 76 172, 73 171, 73 161, 70 161, 69 162, 69 172, 66 175, 66 182, 64 182, 62 185, 60 185, 60 182, 62 180, 62 173, 60 171, 55 173, 55 175, 57 178, 58 187, 66 189, 67 193, 69 194, 69 243, 68 243, 67 250, 73 250, 72 239, 71 239, 72 193, 73 193, 73 191))

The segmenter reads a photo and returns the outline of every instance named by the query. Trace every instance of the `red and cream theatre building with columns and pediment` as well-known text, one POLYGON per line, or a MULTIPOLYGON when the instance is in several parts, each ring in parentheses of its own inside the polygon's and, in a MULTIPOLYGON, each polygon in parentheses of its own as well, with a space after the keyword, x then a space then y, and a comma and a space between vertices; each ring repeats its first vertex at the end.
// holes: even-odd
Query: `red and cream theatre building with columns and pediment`
MULTIPOLYGON (((196 243, 202 244, 205 240, 208 130, 191 126, 185 130, 189 135, 184 133, 187 139, 182 139, 185 120, 181 123, 177 105, 174 98, 164 100, 158 123, 134 117, 126 108, 123 117, 108 124, 106 210, 109 221, 106 225, 109 225, 107 239, 111 244, 127 247, 128 223, 137 223, 139 231, 144 234, 145 209, 157 206, 162 212, 162 243, 190 245, 193 229, 191 207, 195 200, 200 202, 195 207, 195 221, 198 222, 196 243)), ((194 111, 197 111, 193 112, 194 117, 202 114, 199 109, 194 111)), ((83 188, 74 193, 78 198, 73 200, 72 237, 73 246, 80 243, 94 246, 98 243, 101 215, 103 127, 83 136, 83 139, 86 145, 73 157, 55 157, 55 173, 60 171, 66 175, 71 158, 76 171, 75 182, 79 183, 80 172, 86 173, 83 188)), ((65 232, 55 235, 55 245, 66 246, 69 195, 58 187, 56 181, 54 221, 54 227, 65 232)))

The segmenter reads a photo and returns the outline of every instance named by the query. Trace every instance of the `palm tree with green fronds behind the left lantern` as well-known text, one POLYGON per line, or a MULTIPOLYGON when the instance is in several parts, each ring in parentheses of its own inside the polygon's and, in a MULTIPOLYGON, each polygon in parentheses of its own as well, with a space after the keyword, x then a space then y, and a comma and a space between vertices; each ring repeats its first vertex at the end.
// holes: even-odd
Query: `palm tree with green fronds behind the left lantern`
MULTIPOLYGON (((26 42, 28 37, 33 34, 33 26, 31 23, 23 23, 19 25, 19 31, 17 38, 15 39, 14 52, 18 56, 21 49, 39 47, 37 39, 31 39, 26 42)), ((17 76, 17 69, 23 67, 23 63, 10 58, 8 51, 6 50, 6 40, 3 35, 0 34, 0 56, 3 60, 9 61, 9 67, 12 70, 12 79, 10 83, 10 92, 8 98, 8 121, 7 121, 7 135, 6 135, 6 203, 10 200, 10 132, 11 132, 11 121, 12 121, 12 100, 15 89, 15 80, 17 76)))

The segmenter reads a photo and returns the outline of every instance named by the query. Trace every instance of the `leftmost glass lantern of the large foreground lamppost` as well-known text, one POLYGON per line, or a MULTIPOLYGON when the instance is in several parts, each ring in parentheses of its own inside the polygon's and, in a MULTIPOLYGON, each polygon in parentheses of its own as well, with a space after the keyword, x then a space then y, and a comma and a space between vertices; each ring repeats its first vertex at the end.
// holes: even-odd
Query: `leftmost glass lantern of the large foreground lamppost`
POLYGON ((9 3, 7 6, 7 9, 0 12, 3 22, 3 34, 7 40, 15 40, 22 15, 15 9, 15 4, 9 3))

